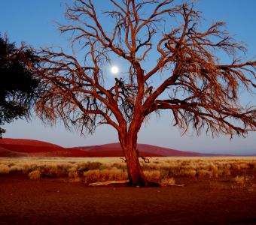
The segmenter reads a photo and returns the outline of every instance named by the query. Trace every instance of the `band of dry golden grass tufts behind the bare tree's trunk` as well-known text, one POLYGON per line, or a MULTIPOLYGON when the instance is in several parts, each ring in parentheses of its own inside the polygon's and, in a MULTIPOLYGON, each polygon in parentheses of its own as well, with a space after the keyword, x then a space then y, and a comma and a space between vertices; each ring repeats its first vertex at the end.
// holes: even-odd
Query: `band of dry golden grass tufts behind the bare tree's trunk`
MULTIPOLYGON (((244 184, 256 176, 256 157, 151 157, 142 160, 151 181, 173 184, 175 178, 228 178, 244 184)), ((126 163, 119 157, 2 157, 0 174, 23 173, 30 179, 67 178, 89 184, 126 180, 126 163)))

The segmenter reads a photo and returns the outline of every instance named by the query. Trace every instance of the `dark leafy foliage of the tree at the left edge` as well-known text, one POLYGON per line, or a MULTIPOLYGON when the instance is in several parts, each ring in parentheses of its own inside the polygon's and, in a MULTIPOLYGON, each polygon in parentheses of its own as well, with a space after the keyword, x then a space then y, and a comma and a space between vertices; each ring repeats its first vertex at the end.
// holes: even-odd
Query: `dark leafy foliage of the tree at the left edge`
MULTIPOLYGON (((0 36, 0 125, 17 118, 29 117, 29 110, 37 96, 38 80, 27 64, 38 64, 31 49, 16 48, 0 36)), ((0 138, 5 130, 0 127, 0 138)))

